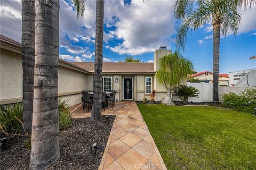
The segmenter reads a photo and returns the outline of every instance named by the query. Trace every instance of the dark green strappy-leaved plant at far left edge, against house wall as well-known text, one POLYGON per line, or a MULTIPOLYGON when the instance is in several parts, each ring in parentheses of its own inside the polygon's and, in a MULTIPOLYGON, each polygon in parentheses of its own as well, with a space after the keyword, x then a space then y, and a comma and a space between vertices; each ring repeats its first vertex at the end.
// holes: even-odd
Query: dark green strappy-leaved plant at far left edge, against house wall
POLYGON ((7 105, 0 108, 1 132, 20 134, 22 129, 22 105, 7 105))

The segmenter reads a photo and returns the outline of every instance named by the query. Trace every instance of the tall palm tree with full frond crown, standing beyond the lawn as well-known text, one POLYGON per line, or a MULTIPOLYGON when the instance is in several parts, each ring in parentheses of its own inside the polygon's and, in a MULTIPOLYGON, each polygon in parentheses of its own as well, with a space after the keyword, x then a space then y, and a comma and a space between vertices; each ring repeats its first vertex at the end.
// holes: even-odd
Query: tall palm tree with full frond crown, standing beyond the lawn
POLYGON ((174 15, 182 20, 177 33, 176 45, 185 49, 187 32, 211 22, 213 26, 213 101, 219 101, 220 36, 237 33, 241 23, 239 8, 251 8, 255 0, 182 0, 174 4, 174 15))

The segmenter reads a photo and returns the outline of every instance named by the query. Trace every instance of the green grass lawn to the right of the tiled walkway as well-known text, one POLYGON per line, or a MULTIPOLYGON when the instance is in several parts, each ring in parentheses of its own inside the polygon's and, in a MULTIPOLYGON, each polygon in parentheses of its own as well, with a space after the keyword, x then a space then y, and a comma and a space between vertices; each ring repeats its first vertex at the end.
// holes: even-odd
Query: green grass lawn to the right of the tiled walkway
POLYGON ((256 117, 204 106, 138 104, 168 169, 256 169, 256 117))

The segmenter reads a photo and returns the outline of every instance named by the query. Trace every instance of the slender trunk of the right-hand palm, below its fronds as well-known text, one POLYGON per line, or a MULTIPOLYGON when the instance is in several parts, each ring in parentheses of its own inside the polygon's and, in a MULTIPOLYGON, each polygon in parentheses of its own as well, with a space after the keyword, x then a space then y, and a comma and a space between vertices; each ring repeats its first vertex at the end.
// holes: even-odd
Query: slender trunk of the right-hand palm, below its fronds
POLYGON ((213 25, 213 102, 219 102, 219 67, 220 67, 220 22, 213 25))

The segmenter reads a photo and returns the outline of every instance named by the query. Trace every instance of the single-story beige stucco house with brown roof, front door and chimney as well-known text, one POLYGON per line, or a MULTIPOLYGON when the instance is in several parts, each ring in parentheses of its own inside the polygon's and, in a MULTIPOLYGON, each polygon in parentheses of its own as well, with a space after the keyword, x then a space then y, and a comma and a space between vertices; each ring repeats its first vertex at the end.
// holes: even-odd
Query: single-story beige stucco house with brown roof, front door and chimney
MULTIPOLYGON (((6 105, 22 101, 21 43, 3 35, 0 40, 0 104, 6 105)), ((151 91, 155 89, 156 100, 161 101, 166 90, 162 83, 157 82, 155 73, 159 69, 158 59, 168 54, 171 54, 171 50, 157 49, 154 63, 103 63, 103 90, 116 90, 116 100, 121 101, 149 99, 151 91)), ((93 90, 93 72, 92 62, 71 63, 59 59, 59 98, 69 99, 70 105, 81 103, 82 91, 93 90)))

